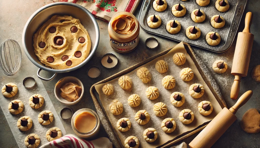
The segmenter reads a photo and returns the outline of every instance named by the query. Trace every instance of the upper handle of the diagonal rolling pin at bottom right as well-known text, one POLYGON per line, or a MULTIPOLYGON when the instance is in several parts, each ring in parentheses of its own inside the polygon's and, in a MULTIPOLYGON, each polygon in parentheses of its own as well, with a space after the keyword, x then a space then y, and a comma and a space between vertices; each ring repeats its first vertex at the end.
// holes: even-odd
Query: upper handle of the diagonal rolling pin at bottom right
POLYGON ((234 106, 232 106, 229 110, 233 113, 236 114, 237 110, 242 107, 253 95, 252 90, 246 91, 236 102, 234 106))

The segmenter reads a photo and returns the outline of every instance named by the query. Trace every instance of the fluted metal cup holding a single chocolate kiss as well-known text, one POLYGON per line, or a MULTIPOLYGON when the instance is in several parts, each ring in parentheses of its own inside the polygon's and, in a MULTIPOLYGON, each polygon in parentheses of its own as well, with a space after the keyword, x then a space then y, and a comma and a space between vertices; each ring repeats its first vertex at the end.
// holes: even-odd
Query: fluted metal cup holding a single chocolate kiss
POLYGON ((101 58, 101 64, 107 69, 114 68, 118 64, 118 58, 113 53, 106 53, 101 58))

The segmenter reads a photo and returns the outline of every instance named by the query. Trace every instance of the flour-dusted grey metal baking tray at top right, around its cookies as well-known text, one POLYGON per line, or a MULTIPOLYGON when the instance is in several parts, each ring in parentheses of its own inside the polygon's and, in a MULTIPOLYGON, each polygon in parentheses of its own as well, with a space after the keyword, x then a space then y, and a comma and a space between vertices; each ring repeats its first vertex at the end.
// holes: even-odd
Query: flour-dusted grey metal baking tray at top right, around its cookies
POLYGON ((247 2, 247 0, 229 0, 229 4, 230 4, 229 10, 227 12, 222 13, 215 8, 216 0, 211 0, 210 4, 205 7, 199 6, 196 3, 196 0, 188 0, 185 2, 180 0, 171 0, 171 1, 166 0, 167 8, 163 12, 157 12, 153 9, 152 6, 153 1, 154 0, 144 0, 142 4, 138 21, 140 23, 140 27, 144 31, 152 34, 156 34, 161 37, 172 39, 175 41, 179 41, 179 42, 184 41, 186 43, 189 43, 190 45, 200 47, 206 50, 210 50, 213 52, 217 52, 217 53, 228 50, 231 44, 233 43, 247 2), (181 3, 186 7, 187 12, 183 17, 175 17, 172 14, 171 11, 172 6, 178 3, 181 3), (205 12, 206 19, 202 23, 195 23, 191 19, 191 12, 194 9, 199 9, 199 8, 205 12), (153 14, 159 15, 160 18, 162 19, 162 24, 157 29, 151 29, 147 25, 147 17, 153 14), (215 29, 214 27, 211 26, 210 19, 213 15, 220 15, 225 18, 226 23, 222 29, 215 29), (181 24, 181 30, 178 34, 172 35, 166 31, 166 24, 169 20, 172 19, 178 20, 181 24), (199 27, 199 29, 201 30, 201 36, 197 40, 190 40, 186 37, 185 34, 186 28, 193 25, 199 27), (220 34, 221 41, 218 46, 213 47, 206 43, 205 36, 210 31, 218 32, 220 34))

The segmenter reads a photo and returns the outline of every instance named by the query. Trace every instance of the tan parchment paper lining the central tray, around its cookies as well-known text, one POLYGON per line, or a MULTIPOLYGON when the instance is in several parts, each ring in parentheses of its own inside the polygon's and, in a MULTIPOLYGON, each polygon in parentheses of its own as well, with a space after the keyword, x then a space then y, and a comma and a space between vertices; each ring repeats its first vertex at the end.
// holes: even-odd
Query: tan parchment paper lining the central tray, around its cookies
POLYGON ((131 91, 125 91, 120 88, 120 86, 118 84, 119 77, 117 79, 107 82, 107 83, 112 83, 114 86, 114 94, 112 94, 110 96, 106 96, 102 92, 102 87, 107 83, 95 85, 95 89, 96 89, 97 93, 99 94, 99 98, 102 103, 102 106, 105 109, 106 114, 107 114, 109 121, 111 122, 113 128, 116 129, 118 136, 121 139, 121 142, 123 145, 125 145, 124 141, 128 136, 136 136, 136 137, 138 137, 139 142, 140 142, 139 147, 153 148, 153 147, 160 146, 162 144, 165 144, 169 140, 172 140, 173 138, 181 135, 182 133, 191 131, 191 130, 197 128, 199 125, 202 125, 203 123, 212 120, 222 110, 217 99, 214 97, 214 95, 210 91, 209 87, 206 85, 205 81, 202 79, 202 76, 200 75, 198 69, 194 65, 191 57, 189 56, 189 54, 187 54, 182 42, 179 43, 178 45, 176 45, 167 54, 162 55, 140 67, 147 67, 149 69, 150 73, 152 74, 152 80, 151 80, 151 82, 149 82, 147 84, 143 84, 141 82, 141 80, 139 79, 139 77, 136 75, 136 71, 138 68, 135 69, 134 71, 126 74, 126 75, 130 76, 133 81, 133 86, 132 86, 131 91), (184 65, 177 66, 173 63, 172 56, 177 52, 182 52, 186 55, 186 62, 184 65), (166 73, 160 74, 155 69, 155 63, 158 60, 165 60, 168 63, 169 68, 166 73), (182 81, 179 76, 181 69, 186 68, 186 67, 191 68, 194 72, 194 78, 189 82, 182 81), (173 89, 165 89, 162 86, 162 82, 161 82, 162 78, 166 75, 172 75, 176 79, 176 86, 173 89), (205 92, 201 98, 195 99, 189 95, 189 87, 193 83, 200 83, 204 86, 205 92), (148 88, 149 86, 155 86, 159 89, 160 95, 157 99, 149 100, 146 97, 145 91, 146 91, 146 88, 148 88), (170 101, 170 95, 175 91, 179 91, 179 92, 183 93, 185 96, 185 103, 181 107, 174 107, 170 101), (127 103, 128 97, 132 94, 138 94, 141 98, 141 103, 138 107, 132 108, 127 103), (117 115, 117 116, 114 116, 110 112, 109 107, 108 107, 109 104, 114 99, 118 99, 123 104, 123 112, 122 112, 122 114, 117 115), (213 105, 213 112, 209 116, 203 116, 198 111, 199 102, 204 101, 204 100, 210 101, 213 105), (165 116, 157 117, 154 115, 153 105, 157 102, 163 102, 166 104, 168 111, 165 116), (193 111, 195 118, 191 124, 185 125, 179 121, 179 113, 183 109, 191 109, 193 111), (150 115, 150 121, 145 125, 139 125, 134 119, 136 112, 139 110, 146 110, 150 115), (123 118, 123 117, 128 118, 132 123, 131 129, 127 132, 120 132, 116 127, 116 122, 120 118, 123 118), (168 133, 165 133, 161 129, 161 122, 163 119, 169 118, 169 117, 174 118, 177 126, 176 126, 176 129, 174 132, 168 134, 168 133), (143 132, 147 128, 155 128, 158 132, 158 138, 153 143, 148 143, 143 138, 143 132))

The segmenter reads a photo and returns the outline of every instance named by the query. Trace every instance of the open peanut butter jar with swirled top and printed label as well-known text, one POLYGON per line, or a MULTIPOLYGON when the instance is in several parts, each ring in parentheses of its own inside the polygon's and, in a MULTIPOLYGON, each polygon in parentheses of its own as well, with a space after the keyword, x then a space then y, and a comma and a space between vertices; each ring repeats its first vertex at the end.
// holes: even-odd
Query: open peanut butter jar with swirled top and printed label
POLYGON ((128 53, 138 45, 139 32, 139 22, 133 14, 118 12, 108 24, 110 46, 117 52, 128 53))

